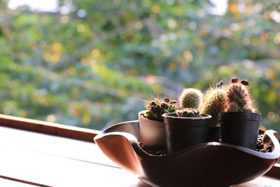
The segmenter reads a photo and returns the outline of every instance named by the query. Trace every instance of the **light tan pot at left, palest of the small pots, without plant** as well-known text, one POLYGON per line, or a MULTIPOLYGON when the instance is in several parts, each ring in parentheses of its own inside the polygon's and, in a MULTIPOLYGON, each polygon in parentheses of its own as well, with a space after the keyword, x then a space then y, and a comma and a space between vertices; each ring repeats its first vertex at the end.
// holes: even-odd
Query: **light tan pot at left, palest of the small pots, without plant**
POLYGON ((146 113, 146 111, 138 113, 141 143, 149 147, 166 146, 165 123, 158 120, 149 120, 141 116, 141 113, 146 113))

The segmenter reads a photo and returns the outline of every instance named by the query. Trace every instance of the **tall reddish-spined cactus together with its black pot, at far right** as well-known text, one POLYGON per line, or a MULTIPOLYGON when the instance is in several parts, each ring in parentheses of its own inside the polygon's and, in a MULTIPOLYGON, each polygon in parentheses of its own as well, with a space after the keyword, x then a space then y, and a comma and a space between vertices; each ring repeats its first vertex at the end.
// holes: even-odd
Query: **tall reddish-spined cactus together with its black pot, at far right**
POLYGON ((232 78, 226 86, 225 112, 219 114, 224 143, 255 149, 261 114, 253 105, 248 81, 232 78))

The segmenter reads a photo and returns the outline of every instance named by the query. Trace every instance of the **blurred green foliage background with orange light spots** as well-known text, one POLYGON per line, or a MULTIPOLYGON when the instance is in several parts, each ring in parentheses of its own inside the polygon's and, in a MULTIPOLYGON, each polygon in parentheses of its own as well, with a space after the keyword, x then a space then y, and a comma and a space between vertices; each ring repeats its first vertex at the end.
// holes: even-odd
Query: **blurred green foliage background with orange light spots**
POLYGON ((278 0, 2 0, 0 48, 3 114, 101 130, 239 76, 280 132, 278 0))

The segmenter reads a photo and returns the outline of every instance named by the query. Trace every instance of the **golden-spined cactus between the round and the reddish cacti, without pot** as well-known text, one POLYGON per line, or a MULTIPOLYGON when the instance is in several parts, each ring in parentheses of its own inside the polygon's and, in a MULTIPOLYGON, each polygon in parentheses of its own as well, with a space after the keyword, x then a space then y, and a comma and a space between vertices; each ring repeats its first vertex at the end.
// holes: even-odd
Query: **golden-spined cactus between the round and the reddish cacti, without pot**
POLYGON ((225 111, 226 92, 222 87, 223 81, 220 81, 215 87, 210 87, 202 99, 202 113, 212 116, 209 126, 219 127, 218 113, 225 111))

